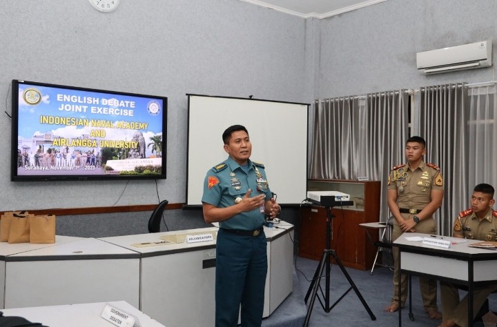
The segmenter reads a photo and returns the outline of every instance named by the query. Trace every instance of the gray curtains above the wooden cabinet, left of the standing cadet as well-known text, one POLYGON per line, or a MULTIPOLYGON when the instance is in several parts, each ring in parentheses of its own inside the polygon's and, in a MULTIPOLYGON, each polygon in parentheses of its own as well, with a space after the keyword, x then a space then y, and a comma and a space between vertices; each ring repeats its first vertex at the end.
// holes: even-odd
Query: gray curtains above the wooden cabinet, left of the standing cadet
POLYGON ((314 102, 309 178, 382 181, 380 221, 387 221, 387 178, 404 157, 409 133, 405 90, 314 102))

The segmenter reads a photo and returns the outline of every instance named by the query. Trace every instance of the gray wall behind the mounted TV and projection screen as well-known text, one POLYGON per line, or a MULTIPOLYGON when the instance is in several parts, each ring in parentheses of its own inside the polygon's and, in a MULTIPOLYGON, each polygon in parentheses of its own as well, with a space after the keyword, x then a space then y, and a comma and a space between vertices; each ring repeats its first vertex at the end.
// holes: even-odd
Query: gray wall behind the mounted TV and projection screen
MULTIPOLYGON (((242 1, 121 1, 103 14, 82 0, 4 0, 0 22, 7 112, 12 79, 168 97, 168 179, 157 188, 170 203, 185 201, 186 93, 313 98, 306 20, 242 1)), ((155 181, 10 182, 10 119, 2 117, 0 210, 159 202, 155 181)))

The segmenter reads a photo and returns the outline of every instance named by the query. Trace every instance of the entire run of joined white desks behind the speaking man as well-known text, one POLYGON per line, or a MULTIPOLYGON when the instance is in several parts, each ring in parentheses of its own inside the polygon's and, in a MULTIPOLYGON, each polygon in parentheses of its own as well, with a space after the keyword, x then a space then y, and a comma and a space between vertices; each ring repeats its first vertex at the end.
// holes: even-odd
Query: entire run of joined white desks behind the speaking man
MULTIPOLYGON (((268 275, 264 317, 293 289, 293 225, 264 228, 268 275)), ((106 237, 56 237, 55 244, 0 243, 3 308, 126 301, 168 327, 213 326, 215 241, 135 247, 176 232, 106 237)))

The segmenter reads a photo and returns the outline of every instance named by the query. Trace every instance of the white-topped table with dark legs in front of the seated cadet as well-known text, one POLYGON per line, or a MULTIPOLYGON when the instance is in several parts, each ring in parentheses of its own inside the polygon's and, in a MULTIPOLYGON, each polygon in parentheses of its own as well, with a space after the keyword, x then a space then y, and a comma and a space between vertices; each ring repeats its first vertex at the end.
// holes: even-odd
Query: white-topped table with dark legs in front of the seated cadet
MULTIPOLYGON (((468 326, 472 326, 473 288, 477 284, 497 281, 495 273, 497 270, 497 251, 471 248, 469 244, 480 242, 472 239, 468 239, 464 243, 453 244, 452 248, 440 248, 424 245, 421 241, 409 241, 406 237, 430 236, 409 232, 402 234, 393 242, 392 245, 399 248, 401 272, 409 275, 429 276, 467 286, 468 326)), ((442 237, 442 239, 460 241, 460 239, 453 237, 442 237)), ((400 282, 398 293, 400 298, 400 282)), ((398 310, 399 326, 402 326, 401 311, 398 310)))

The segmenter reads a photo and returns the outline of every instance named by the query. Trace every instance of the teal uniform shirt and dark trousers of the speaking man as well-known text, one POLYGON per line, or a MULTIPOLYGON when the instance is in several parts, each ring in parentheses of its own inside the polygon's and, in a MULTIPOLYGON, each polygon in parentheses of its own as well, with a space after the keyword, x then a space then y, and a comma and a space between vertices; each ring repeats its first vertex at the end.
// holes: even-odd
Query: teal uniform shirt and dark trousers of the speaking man
MULTIPOLYGON (((246 166, 240 166, 228 157, 208 170, 202 202, 227 208, 243 201, 249 189, 250 197, 264 194, 266 201, 271 198, 264 166, 251 160, 246 166)), ((264 232, 253 235, 238 232, 257 230, 265 222, 260 208, 220 222, 216 240, 216 327, 237 326, 239 313, 242 326, 260 327, 262 324, 267 275, 266 235, 264 232)))

